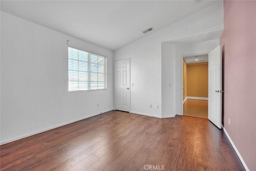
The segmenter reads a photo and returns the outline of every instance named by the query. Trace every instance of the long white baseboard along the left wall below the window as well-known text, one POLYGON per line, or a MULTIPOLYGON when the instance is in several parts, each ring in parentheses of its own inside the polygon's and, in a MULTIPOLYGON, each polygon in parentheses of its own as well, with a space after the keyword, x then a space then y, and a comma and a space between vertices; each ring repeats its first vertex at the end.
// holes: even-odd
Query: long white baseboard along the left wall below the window
MULTIPOLYGON (((102 111, 102 113, 106 113, 106 112, 112 111, 112 110, 113 110, 113 109, 108 109, 108 110, 106 110, 106 111, 102 111)), ((49 128, 46 128, 46 129, 42 129, 42 130, 40 130, 40 131, 28 133, 28 134, 26 134, 26 135, 22 135, 22 136, 19 136, 19 137, 16 137, 16 138, 8 139, 8 140, 6 140, 6 141, 0 142, 0 145, 6 144, 6 143, 10 143, 10 142, 13 142, 13 141, 17 141, 17 140, 22 139, 22 138, 30 137, 30 136, 32 136, 32 135, 36 135, 36 134, 38 134, 38 133, 42 133, 42 132, 45 132, 45 131, 49 131, 49 130, 54 129, 54 128, 57 128, 57 127, 62 127, 62 126, 64 126, 64 125, 68 125, 68 124, 70 124, 70 123, 74 123, 74 122, 77 122, 77 121, 80 121, 80 120, 83 120, 83 119, 86 119, 86 118, 89 118, 89 117, 93 117, 93 116, 96 116, 96 115, 99 115, 99 114, 101 114, 101 113, 94 113, 94 114, 89 115, 89 116, 85 116, 85 117, 82 117, 82 118, 79 118, 79 119, 75 119, 75 120, 73 120, 73 121, 69 121, 69 122, 66 122, 66 123, 62 123, 62 124, 60 124, 60 125, 56 125, 56 126, 53 126, 53 127, 49 127, 49 128)))

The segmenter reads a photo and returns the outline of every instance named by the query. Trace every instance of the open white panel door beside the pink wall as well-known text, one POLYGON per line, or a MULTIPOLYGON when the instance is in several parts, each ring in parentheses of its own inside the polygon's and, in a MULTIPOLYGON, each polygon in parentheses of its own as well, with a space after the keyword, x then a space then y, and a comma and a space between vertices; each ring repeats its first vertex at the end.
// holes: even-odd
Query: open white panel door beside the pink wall
POLYGON ((222 59, 220 45, 208 54, 208 119, 221 128, 222 59))

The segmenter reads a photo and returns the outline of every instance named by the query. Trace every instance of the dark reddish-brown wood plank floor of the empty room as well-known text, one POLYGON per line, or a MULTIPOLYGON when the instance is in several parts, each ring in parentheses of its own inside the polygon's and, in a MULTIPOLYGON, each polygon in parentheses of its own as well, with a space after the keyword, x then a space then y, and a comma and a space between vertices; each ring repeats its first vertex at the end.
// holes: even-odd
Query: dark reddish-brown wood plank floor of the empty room
POLYGON ((143 171, 150 165, 165 171, 244 170, 222 129, 179 115, 134 119, 110 111, 1 145, 1 171, 143 171))

